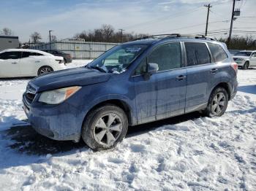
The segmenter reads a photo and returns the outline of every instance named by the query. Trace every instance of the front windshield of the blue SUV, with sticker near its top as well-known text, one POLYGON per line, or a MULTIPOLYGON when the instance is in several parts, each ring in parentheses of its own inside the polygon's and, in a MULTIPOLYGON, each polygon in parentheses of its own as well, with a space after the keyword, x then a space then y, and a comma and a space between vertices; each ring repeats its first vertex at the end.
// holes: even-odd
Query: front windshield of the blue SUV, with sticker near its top
POLYGON ((121 44, 105 52, 86 67, 109 73, 124 72, 138 55, 146 50, 146 44, 121 44))

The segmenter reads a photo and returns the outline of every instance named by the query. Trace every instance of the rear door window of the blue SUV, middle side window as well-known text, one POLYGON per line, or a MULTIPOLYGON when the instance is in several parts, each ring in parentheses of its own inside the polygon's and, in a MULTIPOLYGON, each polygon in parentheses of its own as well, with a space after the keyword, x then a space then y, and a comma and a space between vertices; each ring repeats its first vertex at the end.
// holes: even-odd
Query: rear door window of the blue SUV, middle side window
POLYGON ((196 66, 211 63, 210 53, 205 43, 185 42, 187 66, 196 66))

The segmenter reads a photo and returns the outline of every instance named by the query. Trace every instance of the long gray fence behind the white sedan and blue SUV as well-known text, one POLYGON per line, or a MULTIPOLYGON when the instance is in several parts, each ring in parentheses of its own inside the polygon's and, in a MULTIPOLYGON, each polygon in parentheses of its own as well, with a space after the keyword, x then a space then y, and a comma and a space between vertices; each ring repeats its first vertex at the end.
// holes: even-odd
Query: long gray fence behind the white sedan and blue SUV
POLYGON ((72 55, 75 59, 94 59, 102 55, 110 48, 115 47, 117 43, 108 42, 51 42, 46 44, 38 44, 31 49, 42 50, 60 50, 72 55))

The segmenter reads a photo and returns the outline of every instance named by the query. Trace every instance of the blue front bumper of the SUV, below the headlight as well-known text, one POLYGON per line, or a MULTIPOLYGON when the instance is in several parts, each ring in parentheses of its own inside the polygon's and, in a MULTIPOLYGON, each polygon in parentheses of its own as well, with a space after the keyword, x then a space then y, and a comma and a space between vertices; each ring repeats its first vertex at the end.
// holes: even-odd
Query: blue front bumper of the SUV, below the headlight
POLYGON ((37 133, 54 140, 79 141, 81 124, 78 110, 67 103, 48 105, 29 104, 23 95, 23 109, 37 133))

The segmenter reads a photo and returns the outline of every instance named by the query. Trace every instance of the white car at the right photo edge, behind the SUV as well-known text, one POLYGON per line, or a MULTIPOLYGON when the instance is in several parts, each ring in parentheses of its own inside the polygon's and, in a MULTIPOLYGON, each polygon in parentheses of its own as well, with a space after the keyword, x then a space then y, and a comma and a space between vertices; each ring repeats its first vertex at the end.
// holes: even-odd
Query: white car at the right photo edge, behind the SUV
POLYGON ((233 59, 239 67, 248 69, 251 66, 256 66, 256 51, 244 50, 237 52, 233 55, 233 59))

